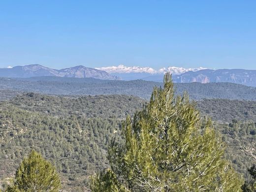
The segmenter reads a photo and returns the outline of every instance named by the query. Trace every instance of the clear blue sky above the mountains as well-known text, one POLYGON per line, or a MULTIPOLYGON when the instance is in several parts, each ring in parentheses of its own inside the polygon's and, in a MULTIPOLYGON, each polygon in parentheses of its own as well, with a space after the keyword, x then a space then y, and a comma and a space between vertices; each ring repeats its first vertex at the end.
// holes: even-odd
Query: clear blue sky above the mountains
POLYGON ((1 0, 0 67, 256 69, 256 0, 1 0))

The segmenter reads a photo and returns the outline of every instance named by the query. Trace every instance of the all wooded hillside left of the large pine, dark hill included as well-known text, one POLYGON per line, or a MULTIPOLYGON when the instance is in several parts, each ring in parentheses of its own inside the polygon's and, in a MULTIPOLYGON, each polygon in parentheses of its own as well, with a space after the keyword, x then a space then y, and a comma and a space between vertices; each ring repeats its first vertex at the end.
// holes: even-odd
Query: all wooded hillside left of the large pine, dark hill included
POLYGON ((33 147, 60 171, 65 190, 85 191, 88 177, 108 166, 108 143, 120 135, 121 120, 142 107, 140 101, 132 96, 30 93, 0 103, 2 186, 33 147))

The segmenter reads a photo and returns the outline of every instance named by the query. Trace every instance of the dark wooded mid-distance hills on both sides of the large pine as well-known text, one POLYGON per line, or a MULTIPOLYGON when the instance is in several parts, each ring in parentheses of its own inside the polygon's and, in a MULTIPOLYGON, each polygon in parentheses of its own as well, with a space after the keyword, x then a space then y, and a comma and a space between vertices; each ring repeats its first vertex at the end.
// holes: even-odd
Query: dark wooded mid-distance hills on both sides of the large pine
MULTIPOLYGON (((10 99, 8 103, 21 109, 32 112, 39 111, 53 116, 73 114, 88 118, 115 117, 125 119, 126 115, 142 109, 148 100, 125 95, 67 97, 23 93, 10 99), (105 108, 104 111, 100 110, 102 107, 105 108)), ((196 108, 202 115, 211 117, 212 120, 220 123, 232 122, 233 119, 242 122, 256 122, 256 101, 203 99, 196 102, 196 108)))

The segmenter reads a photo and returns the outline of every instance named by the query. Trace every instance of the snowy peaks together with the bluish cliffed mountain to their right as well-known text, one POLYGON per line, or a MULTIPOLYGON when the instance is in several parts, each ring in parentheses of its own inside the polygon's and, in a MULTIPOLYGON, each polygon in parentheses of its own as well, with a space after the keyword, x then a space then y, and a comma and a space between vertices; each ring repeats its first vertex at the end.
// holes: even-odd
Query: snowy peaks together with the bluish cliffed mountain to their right
POLYGON ((125 65, 109 66, 97 68, 105 70, 112 75, 117 75, 123 80, 142 79, 146 81, 162 82, 163 75, 170 72, 173 81, 176 83, 237 83, 246 86, 256 87, 256 70, 246 69, 207 69, 199 68, 183 68, 169 66, 155 70, 151 67, 128 67, 125 65))

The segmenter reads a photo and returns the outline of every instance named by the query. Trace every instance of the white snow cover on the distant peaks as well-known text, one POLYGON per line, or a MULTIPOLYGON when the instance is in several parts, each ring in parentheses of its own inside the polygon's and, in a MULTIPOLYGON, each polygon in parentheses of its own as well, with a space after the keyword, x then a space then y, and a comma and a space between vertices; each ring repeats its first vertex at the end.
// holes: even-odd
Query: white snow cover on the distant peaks
POLYGON ((203 67, 199 68, 184 68, 184 67, 175 67, 175 66, 169 66, 167 68, 163 67, 159 70, 155 70, 151 67, 141 67, 141 66, 125 66, 123 64, 118 66, 107 66, 107 67, 99 67, 96 68, 98 70, 103 70, 108 73, 149 73, 149 74, 164 74, 166 72, 170 72, 173 75, 182 74, 187 71, 198 71, 202 69, 206 69, 203 67))

